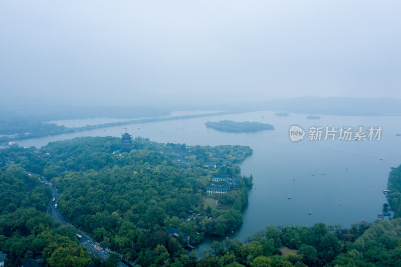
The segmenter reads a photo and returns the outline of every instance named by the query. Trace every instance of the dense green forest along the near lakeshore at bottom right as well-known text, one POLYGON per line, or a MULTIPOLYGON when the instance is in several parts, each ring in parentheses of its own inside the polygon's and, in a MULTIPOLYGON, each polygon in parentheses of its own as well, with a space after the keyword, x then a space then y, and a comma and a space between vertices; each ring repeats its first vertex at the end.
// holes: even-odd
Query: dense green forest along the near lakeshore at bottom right
POLYGON ((248 243, 214 242, 196 266, 401 266, 401 218, 352 224, 347 230, 315 223, 313 227, 266 227, 248 243), (280 247, 293 250, 285 256, 280 247))

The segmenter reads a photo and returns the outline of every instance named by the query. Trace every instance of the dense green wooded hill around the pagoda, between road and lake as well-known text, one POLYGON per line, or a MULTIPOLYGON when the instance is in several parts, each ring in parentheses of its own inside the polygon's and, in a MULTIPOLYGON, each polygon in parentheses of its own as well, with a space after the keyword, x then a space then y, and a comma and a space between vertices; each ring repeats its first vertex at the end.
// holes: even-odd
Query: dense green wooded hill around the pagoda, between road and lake
POLYGON ((144 252, 157 245, 187 255, 183 240, 169 238, 167 227, 190 234, 193 244, 205 234, 222 235, 241 224, 248 177, 225 196, 224 208, 204 206, 203 200, 213 173, 240 175, 237 163, 252 154, 249 147, 158 144, 139 137, 130 153, 120 153, 119 146, 120 139, 114 137, 75 138, 39 150, 12 146, 0 150, 0 164, 17 163, 52 179, 62 192, 62 214, 127 259, 144 258, 144 252), (187 164, 178 166, 176 157, 184 157, 187 164), (210 160, 221 161, 221 167, 204 168, 210 160), (189 219, 189 210, 202 215, 189 219))

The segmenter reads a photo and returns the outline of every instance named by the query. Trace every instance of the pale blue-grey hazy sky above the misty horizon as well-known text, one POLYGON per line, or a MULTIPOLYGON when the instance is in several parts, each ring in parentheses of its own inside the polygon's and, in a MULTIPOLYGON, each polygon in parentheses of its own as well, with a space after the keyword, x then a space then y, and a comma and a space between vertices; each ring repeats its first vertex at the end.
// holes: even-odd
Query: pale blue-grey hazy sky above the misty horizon
POLYGON ((2 1, 0 93, 149 105, 401 98, 401 2, 2 1))

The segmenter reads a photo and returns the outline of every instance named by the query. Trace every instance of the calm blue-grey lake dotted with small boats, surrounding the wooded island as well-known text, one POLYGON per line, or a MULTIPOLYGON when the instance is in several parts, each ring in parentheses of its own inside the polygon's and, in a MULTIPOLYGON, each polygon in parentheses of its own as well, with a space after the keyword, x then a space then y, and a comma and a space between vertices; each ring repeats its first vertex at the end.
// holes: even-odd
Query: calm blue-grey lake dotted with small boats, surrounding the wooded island
POLYGON ((320 120, 307 120, 307 115, 276 117, 272 111, 250 112, 131 124, 28 139, 18 144, 41 147, 49 141, 77 136, 119 137, 127 127, 131 135, 156 142, 250 146, 254 153, 241 164, 241 169, 243 174, 253 175, 254 186, 249 191, 249 204, 243 210, 243 224, 221 238, 208 237, 197 246, 197 251, 202 252, 213 240, 226 237, 244 240, 266 225, 311 226, 324 222, 349 227, 362 219, 372 222, 381 213, 381 205, 386 202, 382 190, 386 189, 388 172, 401 162, 401 137, 395 136, 401 133, 401 117, 322 116, 320 120), (225 133, 205 127, 207 121, 220 120, 270 123, 275 130, 225 133), (305 140, 294 143, 289 139, 292 124, 306 131, 310 126, 381 126, 383 131, 380 141, 308 141, 306 136, 305 140))

